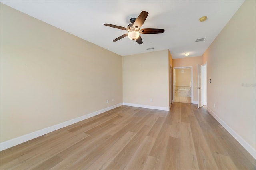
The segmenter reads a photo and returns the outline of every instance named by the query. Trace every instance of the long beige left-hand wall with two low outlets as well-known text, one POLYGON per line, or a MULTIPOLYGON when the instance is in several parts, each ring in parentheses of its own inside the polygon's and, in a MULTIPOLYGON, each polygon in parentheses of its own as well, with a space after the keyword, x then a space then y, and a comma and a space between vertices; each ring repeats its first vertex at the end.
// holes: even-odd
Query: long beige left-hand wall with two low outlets
POLYGON ((1 142, 118 103, 121 56, 1 4, 1 142))

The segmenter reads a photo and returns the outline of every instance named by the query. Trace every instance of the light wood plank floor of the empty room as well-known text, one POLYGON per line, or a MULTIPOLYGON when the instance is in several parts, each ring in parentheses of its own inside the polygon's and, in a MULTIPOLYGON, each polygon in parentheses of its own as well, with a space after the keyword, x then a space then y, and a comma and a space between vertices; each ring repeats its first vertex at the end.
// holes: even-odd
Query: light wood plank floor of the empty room
POLYGON ((121 106, 0 152, 0 169, 246 170, 256 162, 206 111, 121 106))

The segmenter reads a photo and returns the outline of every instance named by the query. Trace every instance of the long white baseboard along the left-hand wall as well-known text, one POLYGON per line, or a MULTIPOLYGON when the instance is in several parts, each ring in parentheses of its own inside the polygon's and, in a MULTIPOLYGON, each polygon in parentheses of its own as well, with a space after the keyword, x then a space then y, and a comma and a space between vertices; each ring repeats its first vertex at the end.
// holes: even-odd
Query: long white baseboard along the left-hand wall
POLYGON ((48 128, 44 128, 44 129, 38 130, 36 132, 32 132, 32 133, 25 134, 23 136, 20 136, 20 137, 11 139, 11 140, 7 140, 5 142, 0 143, 0 151, 8 149, 8 148, 11 148, 11 147, 16 146, 18 144, 27 142, 28 140, 32 140, 34 138, 37 138, 37 137, 42 136, 44 134, 53 132, 53 131, 58 130, 60 128, 66 127, 68 125, 72 125, 74 123, 83 121, 83 120, 88 119, 90 117, 99 115, 101 113, 104 113, 106 111, 109 111, 109 110, 114 109, 114 108, 119 107, 119 106, 122 106, 122 103, 119 103, 117 105, 113 105, 113 106, 107 107, 105 109, 101 109, 99 111, 95 111, 95 112, 89 113, 89 114, 81 116, 81 117, 77 117, 75 119, 71 119, 71 120, 66 121, 66 122, 59 123, 57 125, 53 125, 53 126, 48 127, 48 128))

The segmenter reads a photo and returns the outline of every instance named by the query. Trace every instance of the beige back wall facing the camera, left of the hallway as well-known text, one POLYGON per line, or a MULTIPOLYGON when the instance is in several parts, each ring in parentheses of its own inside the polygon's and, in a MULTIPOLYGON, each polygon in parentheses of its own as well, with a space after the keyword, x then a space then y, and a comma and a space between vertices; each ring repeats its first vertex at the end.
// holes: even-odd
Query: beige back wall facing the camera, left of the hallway
POLYGON ((169 107, 168 58, 168 50, 124 56, 123 102, 169 107))

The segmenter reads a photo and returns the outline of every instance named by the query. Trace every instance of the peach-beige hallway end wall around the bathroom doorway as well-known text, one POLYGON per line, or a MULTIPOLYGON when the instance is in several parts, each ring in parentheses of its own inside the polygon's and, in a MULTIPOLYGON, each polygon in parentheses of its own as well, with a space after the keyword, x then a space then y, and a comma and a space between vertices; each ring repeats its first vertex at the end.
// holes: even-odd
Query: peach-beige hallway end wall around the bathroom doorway
POLYGON ((180 58, 180 59, 173 59, 172 60, 173 67, 189 67, 192 66, 193 72, 193 101, 192 103, 198 102, 197 97, 197 64, 202 64, 202 57, 187 57, 187 58, 180 58))

